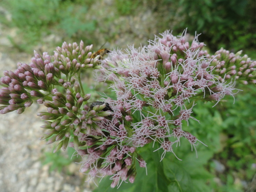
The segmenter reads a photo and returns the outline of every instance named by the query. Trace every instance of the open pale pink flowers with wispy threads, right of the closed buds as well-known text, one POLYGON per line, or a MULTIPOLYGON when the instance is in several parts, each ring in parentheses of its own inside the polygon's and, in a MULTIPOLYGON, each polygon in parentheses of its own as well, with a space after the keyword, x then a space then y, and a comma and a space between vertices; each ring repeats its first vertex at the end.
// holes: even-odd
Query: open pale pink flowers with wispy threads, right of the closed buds
MULTIPOLYGON (((181 137, 195 148, 200 141, 183 130, 182 124, 189 119, 196 120, 191 116, 196 101, 219 102, 225 95, 234 94, 234 83, 217 78, 211 65, 214 58, 206 56, 207 52, 202 50, 204 44, 197 38, 189 44, 185 35, 176 37, 168 31, 161 35, 146 47, 131 46, 127 53, 115 50, 102 61, 99 80, 110 83, 116 100, 106 99, 113 109, 113 117, 99 126, 107 130, 112 127, 108 130, 110 140, 117 147, 113 149, 115 158, 111 151, 104 159, 106 166, 99 172, 105 175, 108 170, 113 175, 112 187, 118 184, 117 179, 127 178, 123 173, 131 165, 126 164, 126 159, 129 162, 139 159, 134 153, 120 157, 120 153, 128 151, 127 146, 139 150, 147 143, 159 143, 157 150, 162 149, 162 159, 167 152, 174 153, 173 147, 179 146, 181 137), (120 162, 122 166, 116 169, 120 162)), ((93 158, 89 157, 84 161, 88 167, 93 158)))

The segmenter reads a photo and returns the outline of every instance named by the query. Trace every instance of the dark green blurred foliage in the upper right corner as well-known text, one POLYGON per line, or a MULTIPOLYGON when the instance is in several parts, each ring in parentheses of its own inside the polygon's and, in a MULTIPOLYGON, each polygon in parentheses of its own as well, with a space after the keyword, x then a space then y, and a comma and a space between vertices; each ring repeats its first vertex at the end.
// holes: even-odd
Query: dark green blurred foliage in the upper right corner
MULTIPOLYGON (((221 47, 234 52, 256 46, 256 17, 254 0, 179 1, 181 18, 175 30, 188 28, 201 33, 199 39, 211 49, 221 47)), ((256 58, 256 54, 253 55, 256 58)))

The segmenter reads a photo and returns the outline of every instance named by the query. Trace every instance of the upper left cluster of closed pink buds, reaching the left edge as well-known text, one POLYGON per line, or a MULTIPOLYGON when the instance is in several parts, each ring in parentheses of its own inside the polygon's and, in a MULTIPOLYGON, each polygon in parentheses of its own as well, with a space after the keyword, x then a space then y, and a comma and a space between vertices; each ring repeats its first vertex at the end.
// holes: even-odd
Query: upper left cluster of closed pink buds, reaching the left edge
MULTIPOLYGON (((14 72, 5 71, 5 76, 0 79, 0 85, 4 87, 0 89, 0 114, 15 110, 19 114, 23 113, 34 100, 39 104, 45 100, 54 100, 54 97, 45 94, 52 94, 54 86, 70 88, 71 81, 76 81, 73 75, 78 73, 80 68, 92 68, 97 65, 90 58, 92 53, 89 51, 92 46, 83 47, 82 41, 79 46, 76 43, 68 45, 64 42, 61 48, 57 48, 54 56, 47 52, 42 56, 34 52, 29 64, 18 63, 14 72)), ((62 106, 58 99, 53 103, 62 106)))

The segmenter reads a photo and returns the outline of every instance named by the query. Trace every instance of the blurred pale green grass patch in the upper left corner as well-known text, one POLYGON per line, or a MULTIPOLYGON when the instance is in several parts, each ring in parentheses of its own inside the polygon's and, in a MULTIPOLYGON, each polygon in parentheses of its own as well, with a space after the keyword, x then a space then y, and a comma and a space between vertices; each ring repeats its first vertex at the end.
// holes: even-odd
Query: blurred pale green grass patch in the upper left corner
MULTIPOLYGON (((81 31, 92 33, 96 21, 84 22, 90 5, 88 2, 90 0, 3 0, 2 5, 10 12, 12 20, 9 22, 2 18, 1 22, 8 27, 18 28, 20 39, 9 38, 20 51, 30 52, 33 46, 44 42, 44 38, 50 34, 58 34, 60 38, 74 38, 81 31)), ((91 43, 90 38, 85 38, 84 41, 91 43)))

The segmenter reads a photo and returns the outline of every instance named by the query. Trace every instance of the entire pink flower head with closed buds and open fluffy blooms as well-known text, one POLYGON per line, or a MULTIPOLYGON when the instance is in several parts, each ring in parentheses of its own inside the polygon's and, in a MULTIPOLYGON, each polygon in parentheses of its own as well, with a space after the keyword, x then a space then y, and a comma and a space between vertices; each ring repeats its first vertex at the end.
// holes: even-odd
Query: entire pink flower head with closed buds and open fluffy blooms
POLYGON ((197 36, 189 43, 185 32, 166 31, 148 42, 126 52, 113 50, 103 60, 93 58, 93 46, 82 41, 64 42, 54 55, 34 52, 29 64, 4 72, 0 113, 21 114, 34 101, 45 105, 47 111, 38 116, 48 131, 40 139, 57 142, 54 152, 75 148, 82 157, 80 172, 90 179, 110 176, 111 187, 135 181, 136 164, 146 168, 141 152, 149 143, 153 149, 147 153, 160 152, 159 161, 167 153, 181 160, 174 148, 182 138, 197 153, 196 146, 204 143, 182 126, 198 121, 193 117, 197 101, 214 106, 239 91, 235 82, 255 83, 256 61, 224 49, 210 55, 197 36), (82 71, 91 69, 114 97, 90 99, 81 79, 82 71))

